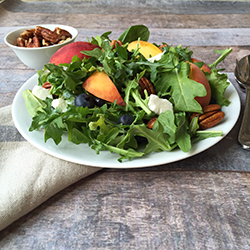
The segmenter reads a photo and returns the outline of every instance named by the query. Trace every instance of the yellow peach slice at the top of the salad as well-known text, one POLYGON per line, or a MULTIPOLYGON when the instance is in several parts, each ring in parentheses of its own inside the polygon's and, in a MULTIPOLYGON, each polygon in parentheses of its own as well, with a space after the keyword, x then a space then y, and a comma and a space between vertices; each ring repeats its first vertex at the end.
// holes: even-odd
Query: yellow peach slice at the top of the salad
MULTIPOLYGON (((132 52, 133 49, 137 48, 138 41, 133 41, 128 45, 128 51, 132 52)), ((139 41, 139 51, 146 58, 156 56, 162 51, 150 42, 139 41)))

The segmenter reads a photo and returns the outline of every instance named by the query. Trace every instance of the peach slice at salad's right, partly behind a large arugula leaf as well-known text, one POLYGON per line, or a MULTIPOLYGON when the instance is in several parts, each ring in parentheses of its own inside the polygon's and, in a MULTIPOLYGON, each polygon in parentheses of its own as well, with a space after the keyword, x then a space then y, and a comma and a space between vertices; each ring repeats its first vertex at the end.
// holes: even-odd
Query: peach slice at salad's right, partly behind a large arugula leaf
POLYGON ((194 99, 203 107, 206 106, 210 103, 211 100, 211 88, 210 88, 210 84, 205 76, 205 74, 203 73, 203 71, 194 63, 189 63, 190 64, 190 73, 189 73, 189 78, 199 82, 201 84, 204 85, 207 94, 206 96, 203 97, 195 97, 194 99))

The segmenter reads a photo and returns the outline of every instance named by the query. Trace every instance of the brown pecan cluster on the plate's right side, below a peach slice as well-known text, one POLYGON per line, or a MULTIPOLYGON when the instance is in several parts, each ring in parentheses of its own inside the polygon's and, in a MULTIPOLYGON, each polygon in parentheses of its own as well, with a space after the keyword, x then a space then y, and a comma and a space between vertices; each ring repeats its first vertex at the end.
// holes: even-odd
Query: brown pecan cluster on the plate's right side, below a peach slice
POLYGON ((199 128, 205 130, 218 124, 225 116, 218 104, 210 104, 202 108, 202 114, 193 113, 190 119, 198 117, 199 128))

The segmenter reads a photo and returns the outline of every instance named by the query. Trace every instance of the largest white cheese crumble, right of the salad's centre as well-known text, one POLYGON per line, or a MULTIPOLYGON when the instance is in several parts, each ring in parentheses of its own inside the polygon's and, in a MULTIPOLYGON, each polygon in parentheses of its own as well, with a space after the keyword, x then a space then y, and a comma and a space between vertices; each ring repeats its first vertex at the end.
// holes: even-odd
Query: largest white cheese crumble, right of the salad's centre
POLYGON ((157 95, 151 94, 149 96, 148 107, 151 111, 155 112, 157 115, 170 110, 173 111, 173 105, 167 99, 162 99, 157 95))

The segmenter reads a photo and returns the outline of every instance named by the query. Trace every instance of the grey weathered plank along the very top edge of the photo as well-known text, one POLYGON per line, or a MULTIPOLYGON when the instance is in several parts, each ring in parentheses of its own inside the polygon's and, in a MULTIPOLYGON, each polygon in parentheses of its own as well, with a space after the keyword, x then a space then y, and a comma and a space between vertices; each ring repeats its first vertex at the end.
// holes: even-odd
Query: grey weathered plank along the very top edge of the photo
POLYGON ((82 14, 244 14, 250 13, 248 1, 65 1, 30 2, 8 0, 2 7, 12 12, 82 13, 82 14))

